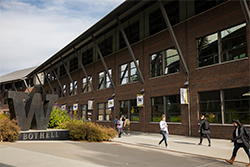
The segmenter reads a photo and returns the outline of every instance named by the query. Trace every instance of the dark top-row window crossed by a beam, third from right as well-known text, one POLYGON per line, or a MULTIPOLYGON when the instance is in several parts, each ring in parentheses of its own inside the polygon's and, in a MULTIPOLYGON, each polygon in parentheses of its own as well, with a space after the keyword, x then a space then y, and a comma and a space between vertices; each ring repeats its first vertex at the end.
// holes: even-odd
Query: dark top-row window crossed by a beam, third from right
MULTIPOLYGON (((140 23, 139 21, 129 25, 127 28, 124 28, 124 32, 129 41, 129 44, 133 44, 140 40, 140 23)), ((126 47, 125 40, 122 36, 122 33, 119 33, 119 48, 122 49, 126 47)))

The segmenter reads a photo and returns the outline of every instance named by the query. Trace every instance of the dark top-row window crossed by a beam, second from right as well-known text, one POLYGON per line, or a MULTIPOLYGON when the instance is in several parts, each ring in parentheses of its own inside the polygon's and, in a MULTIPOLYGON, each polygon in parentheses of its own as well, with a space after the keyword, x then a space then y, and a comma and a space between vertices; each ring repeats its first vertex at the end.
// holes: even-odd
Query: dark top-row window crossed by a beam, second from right
MULTIPOLYGON (((169 21, 171 25, 175 25, 179 22, 179 2, 177 0, 167 3, 165 5, 169 21)), ((159 31, 167 28, 165 20, 162 16, 161 10, 158 9, 149 15, 149 31, 150 35, 153 35, 159 31)))

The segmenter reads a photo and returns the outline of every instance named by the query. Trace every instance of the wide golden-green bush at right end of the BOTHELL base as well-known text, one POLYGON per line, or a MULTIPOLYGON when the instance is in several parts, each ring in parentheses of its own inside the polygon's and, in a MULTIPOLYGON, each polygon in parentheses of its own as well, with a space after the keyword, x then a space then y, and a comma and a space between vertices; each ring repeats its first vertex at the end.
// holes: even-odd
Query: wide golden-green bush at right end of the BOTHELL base
POLYGON ((117 131, 111 127, 82 120, 72 120, 60 127, 69 129, 69 138, 77 141, 110 141, 117 135, 117 131))

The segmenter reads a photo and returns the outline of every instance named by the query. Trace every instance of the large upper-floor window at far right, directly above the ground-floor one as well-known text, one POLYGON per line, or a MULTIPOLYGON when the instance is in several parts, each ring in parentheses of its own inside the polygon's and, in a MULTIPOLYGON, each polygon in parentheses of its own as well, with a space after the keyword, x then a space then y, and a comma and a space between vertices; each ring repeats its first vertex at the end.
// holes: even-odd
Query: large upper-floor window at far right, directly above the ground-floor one
POLYGON ((246 23, 197 39, 198 67, 247 57, 246 23))

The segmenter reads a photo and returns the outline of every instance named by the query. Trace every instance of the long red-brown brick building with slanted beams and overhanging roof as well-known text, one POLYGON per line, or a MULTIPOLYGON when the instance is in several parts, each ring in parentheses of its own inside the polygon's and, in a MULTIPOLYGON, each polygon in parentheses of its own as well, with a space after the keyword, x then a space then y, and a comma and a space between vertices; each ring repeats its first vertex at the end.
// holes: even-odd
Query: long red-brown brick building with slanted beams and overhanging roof
POLYGON ((29 77, 45 73, 43 93, 102 125, 127 116, 131 130, 159 132, 165 114, 171 134, 198 136, 204 114, 211 137, 230 138, 233 118, 250 124, 249 5, 127 0, 29 77), (181 104, 181 88, 189 104, 181 104))

